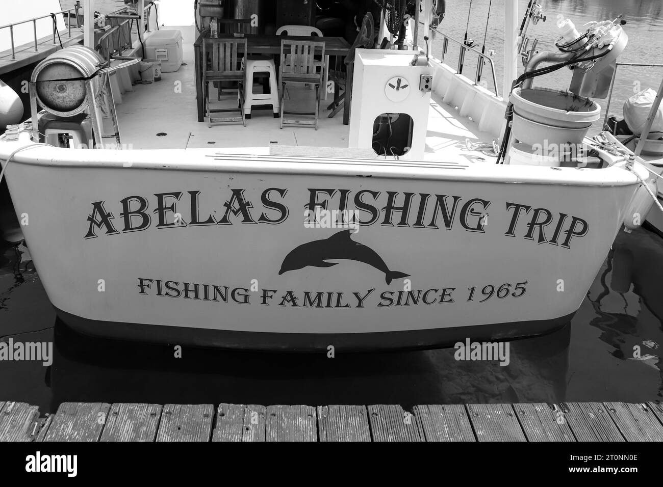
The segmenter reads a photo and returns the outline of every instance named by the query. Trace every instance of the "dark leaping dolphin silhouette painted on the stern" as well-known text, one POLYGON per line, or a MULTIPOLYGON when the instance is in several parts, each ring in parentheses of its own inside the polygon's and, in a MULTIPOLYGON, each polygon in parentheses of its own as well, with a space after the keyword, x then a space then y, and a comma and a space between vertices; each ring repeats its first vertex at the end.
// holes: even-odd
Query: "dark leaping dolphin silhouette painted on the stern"
POLYGON ((280 276, 288 270, 303 269, 306 266, 331 267, 338 262, 327 260, 356 260, 369 264, 385 273, 385 281, 391 284, 393 279, 404 278, 410 274, 389 270, 385 261, 371 247, 350 239, 350 231, 343 230, 330 238, 301 244, 286 255, 278 271, 280 276))

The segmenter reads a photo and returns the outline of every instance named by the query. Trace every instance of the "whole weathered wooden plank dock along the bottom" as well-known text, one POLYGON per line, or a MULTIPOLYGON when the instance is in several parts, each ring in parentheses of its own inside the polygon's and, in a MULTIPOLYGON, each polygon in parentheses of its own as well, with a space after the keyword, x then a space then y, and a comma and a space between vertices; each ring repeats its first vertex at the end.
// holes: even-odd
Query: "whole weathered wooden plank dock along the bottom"
POLYGON ((663 441, 654 403, 256 406, 0 402, 0 441, 663 441))

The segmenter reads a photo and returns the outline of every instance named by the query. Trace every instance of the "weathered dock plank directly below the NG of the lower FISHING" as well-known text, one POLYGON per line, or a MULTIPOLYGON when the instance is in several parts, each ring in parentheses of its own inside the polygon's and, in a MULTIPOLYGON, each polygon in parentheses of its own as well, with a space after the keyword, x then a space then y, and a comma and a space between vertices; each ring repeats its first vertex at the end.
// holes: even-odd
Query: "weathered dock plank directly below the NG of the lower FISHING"
POLYGON ((265 406, 219 404, 212 441, 265 441, 265 406))

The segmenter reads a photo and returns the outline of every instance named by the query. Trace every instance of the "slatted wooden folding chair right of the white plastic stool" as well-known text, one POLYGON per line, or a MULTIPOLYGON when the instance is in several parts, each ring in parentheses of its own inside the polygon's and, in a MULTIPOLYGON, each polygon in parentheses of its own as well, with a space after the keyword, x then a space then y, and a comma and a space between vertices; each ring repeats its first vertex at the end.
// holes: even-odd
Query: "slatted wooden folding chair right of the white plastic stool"
POLYGON ((278 79, 281 83, 280 109, 281 129, 287 125, 312 125, 318 130, 318 111, 320 107, 320 85, 324 76, 324 64, 316 62, 314 56, 325 57, 325 43, 309 40, 281 40, 281 57, 278 68, 278 79), (318 71, 318 68, 320 70, 318 71), (310 111, 286 111, 285 92, 287 83, 310 83, 316 90, 316 109, 310 111), (298 120, 285 120, 284 115, 313 115, 314 123, 298 120))

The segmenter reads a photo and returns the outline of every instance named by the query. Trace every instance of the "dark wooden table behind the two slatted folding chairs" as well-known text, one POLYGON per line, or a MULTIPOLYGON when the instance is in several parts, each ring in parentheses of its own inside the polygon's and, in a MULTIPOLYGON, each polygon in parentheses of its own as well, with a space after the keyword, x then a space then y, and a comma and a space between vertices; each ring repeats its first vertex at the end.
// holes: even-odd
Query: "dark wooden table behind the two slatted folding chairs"
MULTIPOLYGON (((249 54, 280 54, 281 40, 316 40, 325 43, 326 56, 347 56, 350 44, 342 37, 320 37, 320 36, 277 36, 266 34, 245 34, 248 41, 249 54)), ((203 34, 200 34, 194 42, 194 56, 196 58, 196 103, 198 105, 198 121, 205 119, 205 102, 202 89, 202 42, 203 34)), ((322 87, 327 89, 327 87, 322 87)), ((350 121, 350 98, 352 85, 348 83, 345 87, 346 95, 343 103, 343 125, 350 121)))

